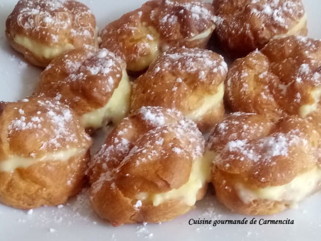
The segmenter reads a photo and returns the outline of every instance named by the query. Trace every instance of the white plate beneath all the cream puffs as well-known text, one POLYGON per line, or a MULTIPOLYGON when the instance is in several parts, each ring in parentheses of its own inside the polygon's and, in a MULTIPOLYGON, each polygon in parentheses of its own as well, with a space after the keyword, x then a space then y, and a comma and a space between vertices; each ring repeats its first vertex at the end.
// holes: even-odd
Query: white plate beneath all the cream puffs
MULTIPOLYGON (((81 0, 96 15, 98 26, 123 13, 139 7, 144 0, 81 0)), ((309 18, 309 36, 321 38, 320 0, 303 0, 309 18)), ((26 64, 21 55, 14 52, 4 37, 5 19, 12 11, 16 0, 0 0, 0 100, 14 101, 32 93, 39 79, 40 69, 26 64)), ((1 185, 1 184, 0 184, 1 185)), ((255 217, 286 220, 293 225, 210 225, 190 226, 190 218, 211 220, 237 220, 242 216, 229 212, 208 195, 197 203, 190 213, 162 224, 125 225, 114 228, 99 219, 91 210, 85 193, 71 200, 64 207, 41 207, 33 211, 21 211, 0 205, 0 241, 35 240, 320 240, 321 193, 303 201, 298 209, 287 210, 274 216, 255 217)))

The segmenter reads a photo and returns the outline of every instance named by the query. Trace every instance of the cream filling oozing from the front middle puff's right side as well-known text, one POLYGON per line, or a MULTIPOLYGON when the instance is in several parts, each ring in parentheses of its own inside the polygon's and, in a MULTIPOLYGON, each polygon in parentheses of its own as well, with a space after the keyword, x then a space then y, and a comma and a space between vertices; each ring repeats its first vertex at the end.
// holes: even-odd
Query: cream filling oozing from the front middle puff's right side
POLYGON ((161 194, 139 193, 136 199, 152 201, 153 206, 170 200, 182 200, 186 205, 193 206, 197 201, 198 192, 209 182, 211 162, 211 156, 204 154, 204 157, 193 161, 190 178, 180 188, 161 194))

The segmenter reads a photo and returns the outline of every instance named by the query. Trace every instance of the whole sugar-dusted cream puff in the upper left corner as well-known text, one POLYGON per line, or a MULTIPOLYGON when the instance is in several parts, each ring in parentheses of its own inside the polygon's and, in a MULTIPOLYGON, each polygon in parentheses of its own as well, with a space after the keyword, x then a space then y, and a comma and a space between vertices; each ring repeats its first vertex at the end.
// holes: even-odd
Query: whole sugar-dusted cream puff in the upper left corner
POLYGON ((95 16, 74 0, 19 0, 5 34, 15 50, 40 67, 69 49, 98 47, 95 16))

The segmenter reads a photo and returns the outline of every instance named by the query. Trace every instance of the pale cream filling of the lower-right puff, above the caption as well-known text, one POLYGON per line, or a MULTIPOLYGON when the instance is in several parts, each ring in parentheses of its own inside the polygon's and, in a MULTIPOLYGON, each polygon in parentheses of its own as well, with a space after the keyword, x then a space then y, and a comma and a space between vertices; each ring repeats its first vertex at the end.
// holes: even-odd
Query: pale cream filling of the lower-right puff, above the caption
POLYGON ((244 203, 250 203, 253 200, 297 203, 316 191, 320 185, 321 169, 315 168, 295 177, 285 185, 255 189, 239 182, 235 188, 244 203))

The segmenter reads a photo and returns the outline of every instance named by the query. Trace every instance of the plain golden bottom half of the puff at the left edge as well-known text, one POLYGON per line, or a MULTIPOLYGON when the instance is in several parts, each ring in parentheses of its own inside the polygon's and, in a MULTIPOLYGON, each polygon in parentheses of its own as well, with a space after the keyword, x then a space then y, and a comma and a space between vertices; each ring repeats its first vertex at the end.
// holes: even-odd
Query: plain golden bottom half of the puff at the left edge
POLYGON ((0 202, 21 209, 65 203, 84 187, 89 160, 88 151, 66 162, 38 162, 13 172, 0 171, 0 202))

